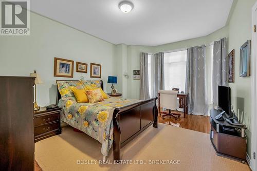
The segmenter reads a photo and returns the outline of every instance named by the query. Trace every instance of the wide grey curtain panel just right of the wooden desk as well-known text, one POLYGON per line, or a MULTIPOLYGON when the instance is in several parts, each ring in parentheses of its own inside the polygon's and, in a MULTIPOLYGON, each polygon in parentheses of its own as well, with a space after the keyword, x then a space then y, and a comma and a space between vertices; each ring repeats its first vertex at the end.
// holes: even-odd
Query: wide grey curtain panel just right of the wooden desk
POLYGON ((208 114, 205 60, 205 45, 188 48, 185 91, 189 93, 188 112, 193 115, 208 114))

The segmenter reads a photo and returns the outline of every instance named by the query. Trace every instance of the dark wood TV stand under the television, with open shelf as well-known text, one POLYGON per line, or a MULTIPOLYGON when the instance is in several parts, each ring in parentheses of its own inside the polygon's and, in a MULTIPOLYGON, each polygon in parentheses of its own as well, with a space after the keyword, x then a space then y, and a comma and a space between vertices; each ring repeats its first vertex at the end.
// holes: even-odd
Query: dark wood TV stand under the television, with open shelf
POLYGON ((210 139, 217 156, 226 156, 245 163, 246 126, 236 126, 229 124, 226 120, 216 120, 215 117, 221 113, 221 111, 222 110, 215 109, 210 110, 210 139))

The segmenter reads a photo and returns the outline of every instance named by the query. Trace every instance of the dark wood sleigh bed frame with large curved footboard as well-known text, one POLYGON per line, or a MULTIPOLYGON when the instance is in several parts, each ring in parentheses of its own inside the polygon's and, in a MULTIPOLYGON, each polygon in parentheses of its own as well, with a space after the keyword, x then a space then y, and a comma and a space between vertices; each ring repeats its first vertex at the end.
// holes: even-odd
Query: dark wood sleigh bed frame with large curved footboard
MULTIPOLYGON (((58 81, 58 80, 57 80, 58 81)), ((78 81, 78 80, 59 80, 59 81, 78 81)), ((101 88, 103 89, 103 82, 101 80, 101 88)), ((57 88, 58 104, 61 99, 61 94, 57 88)), ((156 100, 152 98, 149 100, 137 102, 128 106, 116 108, 113 113, 113 155, 114 160, 119 162, 121 160, 120 149, 128 142, 133 140, 142 131, 149 126, 158 127, 158 109, 156 100)))

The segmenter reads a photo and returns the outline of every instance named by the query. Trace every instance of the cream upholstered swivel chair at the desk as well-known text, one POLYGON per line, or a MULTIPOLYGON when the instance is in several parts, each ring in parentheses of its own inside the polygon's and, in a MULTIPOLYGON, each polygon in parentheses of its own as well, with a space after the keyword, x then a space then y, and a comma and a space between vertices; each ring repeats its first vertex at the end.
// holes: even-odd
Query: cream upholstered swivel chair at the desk
POLYGON ((179 113, 171 112, 171 110, 177 109, 177 91, 159 90, 158 91, 158 109, 159 109, 160 115, 161 115, 161 113, 165 114, 165 115, 162 115, 162 119, 164 119, 164 117, 166 117, 166 116, 173 117, 173 118, 175 118, 175 120, 180 118, 179 113), (161 107, 169 109, 169 112, 160 111, 161 107), (176 116, 178 116, 178 118, 176 116))

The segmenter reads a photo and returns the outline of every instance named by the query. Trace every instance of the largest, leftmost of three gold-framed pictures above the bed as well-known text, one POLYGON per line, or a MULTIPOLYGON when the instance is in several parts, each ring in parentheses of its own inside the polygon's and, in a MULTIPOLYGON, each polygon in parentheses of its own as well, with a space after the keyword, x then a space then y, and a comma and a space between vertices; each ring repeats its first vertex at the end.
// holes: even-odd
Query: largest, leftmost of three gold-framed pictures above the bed
POLYGON ((61 58, 54 58, 54 77, 69 77, 73 78, 74 61, 61 58))

